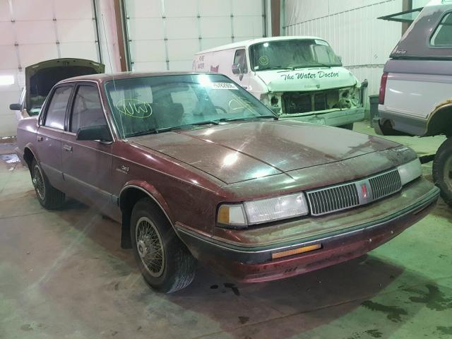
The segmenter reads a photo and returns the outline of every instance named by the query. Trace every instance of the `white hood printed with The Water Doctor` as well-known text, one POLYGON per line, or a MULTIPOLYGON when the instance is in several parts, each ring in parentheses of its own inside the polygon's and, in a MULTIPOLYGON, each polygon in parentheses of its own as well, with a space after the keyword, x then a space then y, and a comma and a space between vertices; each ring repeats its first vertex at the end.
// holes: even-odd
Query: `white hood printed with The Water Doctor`
POLYGON ((327 90, 357 84, 355 76, 343 67, 258 71, 256 74, 270 92, 327 90))

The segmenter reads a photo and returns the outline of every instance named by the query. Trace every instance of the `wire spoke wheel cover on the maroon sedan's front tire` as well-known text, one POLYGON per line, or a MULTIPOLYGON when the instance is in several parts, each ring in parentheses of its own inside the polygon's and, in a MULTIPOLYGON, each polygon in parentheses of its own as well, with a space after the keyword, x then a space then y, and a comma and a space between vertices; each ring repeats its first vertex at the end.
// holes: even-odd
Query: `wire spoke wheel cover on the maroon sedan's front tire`
POLYGON ((165 251, 160 233, 147 217, 136 222, 136 249, 143 266, 153 277, 160 277, 165 268, 165 251))

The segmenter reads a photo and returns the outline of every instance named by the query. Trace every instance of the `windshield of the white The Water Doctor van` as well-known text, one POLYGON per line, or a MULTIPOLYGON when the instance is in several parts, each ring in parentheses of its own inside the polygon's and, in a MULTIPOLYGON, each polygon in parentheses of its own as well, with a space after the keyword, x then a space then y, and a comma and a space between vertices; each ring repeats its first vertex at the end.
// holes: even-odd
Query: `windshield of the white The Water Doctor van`
POLYGON ((342 66, 328 42, 319 39, 276 40, 249 47, 251 69, 297 69, 342 66))

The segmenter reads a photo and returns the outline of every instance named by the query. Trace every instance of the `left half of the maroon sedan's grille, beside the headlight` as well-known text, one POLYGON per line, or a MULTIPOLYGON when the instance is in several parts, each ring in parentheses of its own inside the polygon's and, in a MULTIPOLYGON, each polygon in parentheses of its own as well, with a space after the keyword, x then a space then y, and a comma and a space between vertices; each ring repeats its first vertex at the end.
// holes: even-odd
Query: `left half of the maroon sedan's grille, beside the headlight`
POLYGON ((308 201, 312 215, 321 215, 335 210, 345 210, 359 205, 355 184, 345 184, 327 189, 309 191, 308 201))

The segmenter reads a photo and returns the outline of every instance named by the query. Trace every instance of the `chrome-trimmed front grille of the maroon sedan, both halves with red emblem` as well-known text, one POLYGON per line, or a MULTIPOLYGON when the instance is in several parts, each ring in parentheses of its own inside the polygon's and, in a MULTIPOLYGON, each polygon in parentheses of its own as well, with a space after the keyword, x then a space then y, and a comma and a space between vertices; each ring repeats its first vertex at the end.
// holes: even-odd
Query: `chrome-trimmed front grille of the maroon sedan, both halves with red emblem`
POLYGON ((367 179, 307 191, 311 215, 338 212, 371 203, 402 189, 398 170, 377 174, 367 179))

